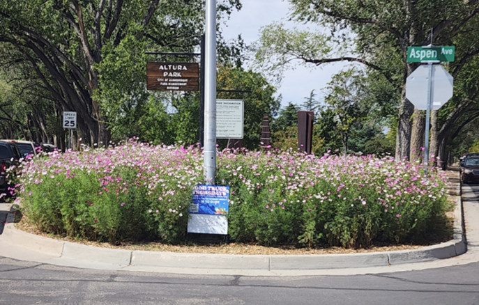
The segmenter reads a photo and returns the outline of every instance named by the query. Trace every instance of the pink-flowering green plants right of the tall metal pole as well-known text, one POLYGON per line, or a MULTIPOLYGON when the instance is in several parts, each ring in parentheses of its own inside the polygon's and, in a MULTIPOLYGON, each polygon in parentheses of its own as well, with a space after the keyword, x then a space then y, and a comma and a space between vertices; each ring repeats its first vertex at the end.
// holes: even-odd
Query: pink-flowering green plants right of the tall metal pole
POLYGON ((236 242, 346 248, 413 242, 450 209, 441 178, 420 195, 411 188, 425 182, 420 166, 390 158, 276 152, 220 159, 217 180, 232 190, 229 235, 236 242))

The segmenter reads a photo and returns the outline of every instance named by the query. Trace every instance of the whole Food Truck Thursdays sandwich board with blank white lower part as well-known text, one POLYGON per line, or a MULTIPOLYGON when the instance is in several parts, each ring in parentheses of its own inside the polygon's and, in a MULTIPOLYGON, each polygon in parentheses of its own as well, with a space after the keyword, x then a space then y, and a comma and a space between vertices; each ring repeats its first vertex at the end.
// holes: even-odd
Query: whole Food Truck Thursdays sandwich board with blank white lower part
POLYGON ((228 234, 229 187, 197 185, 188 209, 188 233, 228 234))

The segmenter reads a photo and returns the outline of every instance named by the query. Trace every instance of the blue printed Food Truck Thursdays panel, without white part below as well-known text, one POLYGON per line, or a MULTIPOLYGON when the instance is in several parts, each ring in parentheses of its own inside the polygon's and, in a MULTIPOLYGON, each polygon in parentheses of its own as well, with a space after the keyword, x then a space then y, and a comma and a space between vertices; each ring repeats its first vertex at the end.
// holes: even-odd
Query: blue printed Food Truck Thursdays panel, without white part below
POLYGON ((197 185, 193 189, 190 214, 227 215, 229 187, 222 185, 197 185))

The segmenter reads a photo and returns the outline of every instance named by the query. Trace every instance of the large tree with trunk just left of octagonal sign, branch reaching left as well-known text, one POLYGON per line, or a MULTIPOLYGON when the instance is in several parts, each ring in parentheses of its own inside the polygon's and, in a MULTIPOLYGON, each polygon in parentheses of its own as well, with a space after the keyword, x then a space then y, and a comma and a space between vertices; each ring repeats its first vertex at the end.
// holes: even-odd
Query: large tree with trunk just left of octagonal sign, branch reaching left
MULTIPOLYGON (((303 63, 322 65, 337 61, 362 63, 380 72, 400 95, 397 120, 396 157, 409 157, 413 133, 411 116, 414 107, 406 100, 405 81, 417 63, 407 63, 407 47, 450 45, 465 35, 478 19, 479 2, 462 0, 290 0, 292 17, 299 22, 328 26, 330 36, 305 31, 287 31, 282 26, 267 26, 260 39, 258 58, 271 66, 284 67, 294 59, 303 63), (342 30, 350 29, 354 44, 347 41, 342 30), (431 31, 431 29, 433 31, 431 31), (334 43, 333 43, 334 42, 334 43), (335 56, 338 44, 355 45, 343 48, 335 56), (335 52, 333 52, 335 51, 335 52), (349 56, 348 54, 358 54, 349 56)), ((471 33, 470 33, 471 34, 471 33)), ((472 35, 472 34, 471 34, 472 35)), ((470 35, 470 36, 471 36, 470 35)), ((459 52, 457 72, 479 54, 479 38, 469 37, 469 47, 459 52)), ((271 66, 269 68, 271 68, 271 66)), ((467 97, 469 100, 471 96, 467 97)), ((420 122, 414 126, 420 126, 420 122)))

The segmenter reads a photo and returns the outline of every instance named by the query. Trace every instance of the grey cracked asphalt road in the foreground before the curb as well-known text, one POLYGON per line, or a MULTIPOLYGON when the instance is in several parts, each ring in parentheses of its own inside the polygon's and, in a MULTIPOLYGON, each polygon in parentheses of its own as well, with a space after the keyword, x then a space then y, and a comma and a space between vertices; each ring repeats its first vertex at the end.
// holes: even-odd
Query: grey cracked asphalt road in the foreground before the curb
MULTIPOLYGON (((479 204, 479 185, 463 188, 479 204)), ((478 219, 479 221, 479 219, 478 219)), ((0 304, 479 305, 479 263, 355 276, 199 276, 0 257, 0 304)))

